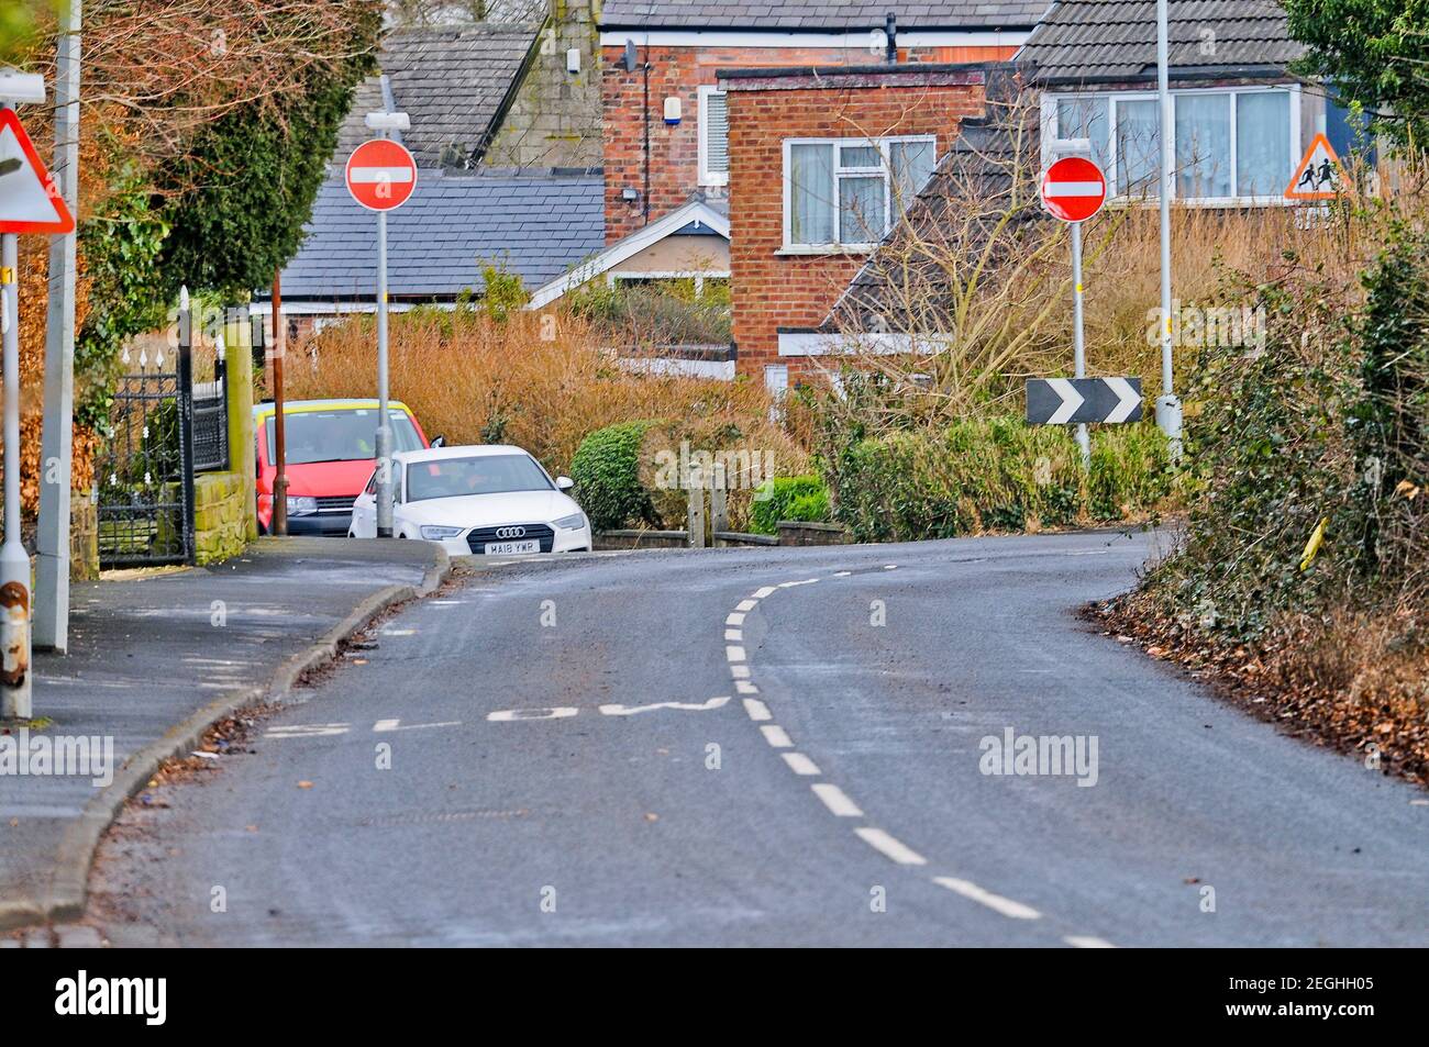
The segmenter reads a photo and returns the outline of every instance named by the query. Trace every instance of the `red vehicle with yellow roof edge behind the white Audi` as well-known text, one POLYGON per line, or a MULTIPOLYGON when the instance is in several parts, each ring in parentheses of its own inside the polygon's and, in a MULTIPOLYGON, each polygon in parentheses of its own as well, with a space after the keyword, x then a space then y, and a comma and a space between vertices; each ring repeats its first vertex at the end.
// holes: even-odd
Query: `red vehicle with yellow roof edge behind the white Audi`
MULTIPOLYGON (((399 400, 389 400, 392 450, 430 447, 417 419, 399 400)), ((272 403, 253 407, 257 433, 259 527, 273 523, 274 416, 272 403)), ((346 536, 353 501, 362 494, 377 460, 376 400, 294 400, 283 404, 287 443, 287 533, 346 536)), ((437 437, 440 444, 440 437, 437 437)))

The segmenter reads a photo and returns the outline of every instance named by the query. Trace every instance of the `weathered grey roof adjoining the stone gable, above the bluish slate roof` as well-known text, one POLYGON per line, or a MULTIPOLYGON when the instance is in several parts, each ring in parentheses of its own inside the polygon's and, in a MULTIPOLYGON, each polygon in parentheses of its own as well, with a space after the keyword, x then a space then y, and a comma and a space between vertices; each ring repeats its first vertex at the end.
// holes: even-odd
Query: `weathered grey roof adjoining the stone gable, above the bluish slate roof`
MULTIPOLYGON (((437 167, 442 150, 457 143, 470 156, 494 133, 493 121, 526 63, 540 26, 477 24, 393 30, 383 40, 379 64, 392 81, 397 110, 412 117, 402 143, 419 167, 437 167)), ((367 113, 382 110, 377 77, 363 81, 337 139, 346 157, 372 137, 367 113)))

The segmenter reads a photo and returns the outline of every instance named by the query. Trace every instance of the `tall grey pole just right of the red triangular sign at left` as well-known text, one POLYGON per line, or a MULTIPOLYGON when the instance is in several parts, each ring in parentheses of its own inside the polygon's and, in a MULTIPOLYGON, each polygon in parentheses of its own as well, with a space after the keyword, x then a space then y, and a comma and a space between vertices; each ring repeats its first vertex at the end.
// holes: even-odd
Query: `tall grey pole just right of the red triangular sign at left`
MULTIPOLYGON (((54 64, 54 179, 79 213, 80 0, 61 13, 54 64)), ((50 240, 50 303, 44 329, 44 424, 40 434, 40 519, 36 530, 34 646, 64 653, 70 634, 70 474, 74 424, 76 233, 50 240)))

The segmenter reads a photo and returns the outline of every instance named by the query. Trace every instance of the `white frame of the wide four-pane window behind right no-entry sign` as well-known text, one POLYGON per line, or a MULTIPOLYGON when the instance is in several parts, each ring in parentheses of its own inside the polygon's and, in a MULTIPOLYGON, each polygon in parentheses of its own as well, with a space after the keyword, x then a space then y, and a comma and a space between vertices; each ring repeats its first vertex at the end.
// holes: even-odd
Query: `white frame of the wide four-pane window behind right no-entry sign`
MULTIPOLYGON (((1248 86, 1232 86, 1232 87, 1186 87, 1172 90, 1172 126, 1170 126, 1170 154, 1176 156, 1176 99, 1180 96, 1192 94, 1263 94, 1266 91, 1283 91, 1290 96, 1289 104, 1289 131, 1290 131, 1290 170, 1295 170, 1295 164, 1299 163, 1303 154, 1305 144, 1302 141, 1300 133, 1300 84, 1248 84, 1248 86)), ((1112 186, 1117 184, 1117 170, 1116 170, 1116 113, 1119 101, 1157 101, 1156 91, 1043 91, 1042 93, 1042 161, 1043 167, 1057 154, 1065 154, 1063 146, 1069 141, 1062 139, 1057 129, 1057 101, 1082 100, 1082 99, 1105 99, 1106 107, 1106 157, 1107 157, 1107 171, 1106 179, 1112 186)), ((1230 166, 1230 184, 1232 190, 1236 187, 1236 180, 1240 177, 1236 163, 1236 113, 1239 111, 1239 103, 1232 99, 1230 101, 1230 156, 1228 163, 1230 166)), ((1238 196, 1232 191, 1232 196, 1196 196, 1196 197, 1182 197, 1177 186, 1176 171, 1172 171, 1170 180, 1170 199, 1173 201, 1182 203, 1187 207, 1285 207, 1293 200, 1286 200, 1282 194, 1260 194, 1260 196, 1238 196)), ((1110 197, 1110 203, 1117 204, 1133 204, 1140 203, 1142 197, 1127 197, 1125 194, 1117 194, 1110 197)), ((1155 197, 1146 200, 1147 204, 1155 203, 1155 197)))

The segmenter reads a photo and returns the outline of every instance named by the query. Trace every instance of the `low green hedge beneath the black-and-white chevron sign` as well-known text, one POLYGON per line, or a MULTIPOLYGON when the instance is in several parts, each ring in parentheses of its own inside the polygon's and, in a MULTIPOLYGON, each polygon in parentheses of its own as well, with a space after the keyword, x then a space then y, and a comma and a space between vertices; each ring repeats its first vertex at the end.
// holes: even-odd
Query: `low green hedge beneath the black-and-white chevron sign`
POLYGON ((1119 520, 1169 490, 1166 441, 1149 423, 1096 430, 1086 477, 1069 430, 1016 417, 860 440, 836 464, 836 516, 859 541, 1119 520))

